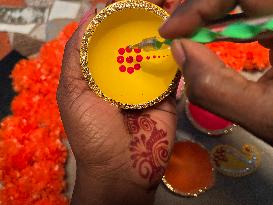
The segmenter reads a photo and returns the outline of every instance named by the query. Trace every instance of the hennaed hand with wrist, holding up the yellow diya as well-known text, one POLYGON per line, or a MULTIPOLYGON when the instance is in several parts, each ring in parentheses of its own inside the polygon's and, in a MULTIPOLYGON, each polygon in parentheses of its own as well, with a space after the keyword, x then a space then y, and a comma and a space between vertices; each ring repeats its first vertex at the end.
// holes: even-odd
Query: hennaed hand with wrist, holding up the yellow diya
POLYGON ((176 129, 175 98, 139 111, 120 110, 84 80, 80 42, 89 19, 65 47, 57 100, 77 163, 72 204, 152 204, 176 129))

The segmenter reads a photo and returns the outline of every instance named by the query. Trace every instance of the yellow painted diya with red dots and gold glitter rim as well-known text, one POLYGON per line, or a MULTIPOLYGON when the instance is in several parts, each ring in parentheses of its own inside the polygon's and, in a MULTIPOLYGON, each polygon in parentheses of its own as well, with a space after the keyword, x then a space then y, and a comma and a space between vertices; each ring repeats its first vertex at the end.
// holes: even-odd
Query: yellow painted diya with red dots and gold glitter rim
POLYGON ((82 71, 98 96, 123 109, 142 109, 167 97, 180 71, 169 48, 130 49, 147 37, 157 37, 168 17, 162 8, 142 0, 119 1, 89 23, 81 44, 82 71))

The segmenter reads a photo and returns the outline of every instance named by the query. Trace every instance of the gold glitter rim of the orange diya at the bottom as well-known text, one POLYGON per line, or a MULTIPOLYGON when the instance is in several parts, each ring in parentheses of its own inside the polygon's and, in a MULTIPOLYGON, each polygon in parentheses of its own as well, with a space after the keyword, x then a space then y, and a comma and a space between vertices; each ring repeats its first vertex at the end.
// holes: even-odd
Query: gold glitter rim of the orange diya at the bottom
POLYGON ((177 142, 186 142, 186 141, 196 143, 196 144, 198 144, 200 147, 202 147, 203 149, 205 149, 208 152, 209 161, 210 161, 211 166, 212 166, 212 168, 211 168, 212 175, 213 175, 212 184, 210 186, 208 186, 208 187, 204 187, 202 189, 199 189, 198 192, 196 192, 196 193, 185 193, 185 192, 180 192, 180 191, 176 190, 175 188, 173 188, 173 186, 167 181, 165 175, 162 177, 161 180, 162 180, 163 184, 167 187, 167 189, 169 189, 171 192, 173 192, 173 193, 175 193, 177 195, 180 195, 180 196, 183 196, 183 197, 188 197, 188 198, 198 197, 200 194, 208 191, 209 189, 211 189, 215 185, 215 181, 216 181, 215 168, 214 168, 214 164, 213 164, 213 161, 212 161, 212 158, 211 158, 211 152, 204 145, 202 145, 199 142, 194 141, 193 139, 184 139, 184 140, 180 140, 180 141, 177 141, 177 142))

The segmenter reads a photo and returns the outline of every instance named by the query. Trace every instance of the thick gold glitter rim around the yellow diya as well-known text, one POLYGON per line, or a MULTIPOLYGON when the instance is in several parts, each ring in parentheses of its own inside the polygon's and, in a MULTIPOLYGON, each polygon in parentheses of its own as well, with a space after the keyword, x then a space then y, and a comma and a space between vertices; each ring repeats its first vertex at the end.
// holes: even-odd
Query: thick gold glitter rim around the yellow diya
POLYGON ((142 1, 142 0, 125 0, 125 1, 118 1, 114 4, 109 5, 108 7, 101 10, 88 24, 87 29, 82 37, 81 48, 80 48, 80 63, 82 68, 82 73, 90 89, 96 93, 97 96, 104 99, 104 101, 110 102, 112 105, 115 105, 121 109, 144 109, 147 107, 151 107, 167 96, 169 96, 177 87, 179 83, 179 79, 181 76, 181 71, 177 70, 174 79, 172 80, 171 84, 159 97, 155 98, 154 100, 148 101, 143 104, 126 104, 115 101, 104 95, 104 93, 100 90, 98 85, 96 84, 94 78, 91 75, 91 72, 88 68, 88 43, 92 38, 96 28, 99 24, 106 19, 108 16, 115 12, 119 12, 125 9, 143 9, 145 11, 151 12, 156 14, 157 16, 161 17, 163 20, 166 20, 169 17, 169 14, 160 8, 159 6, 152 4, 150 2, 142 1))

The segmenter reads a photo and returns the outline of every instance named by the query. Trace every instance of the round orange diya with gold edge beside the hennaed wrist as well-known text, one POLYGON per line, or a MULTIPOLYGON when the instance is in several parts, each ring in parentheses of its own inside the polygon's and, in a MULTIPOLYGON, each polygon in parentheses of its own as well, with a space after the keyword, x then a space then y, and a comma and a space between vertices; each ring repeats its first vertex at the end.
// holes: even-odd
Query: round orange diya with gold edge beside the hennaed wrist
POLYGON ((191 141, 177 142, 162 181, 169 190, 182 196, 197 196, 208 190, 214 185, 209 152, 191 141))

